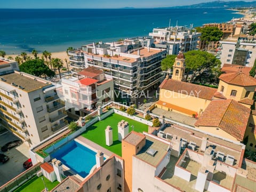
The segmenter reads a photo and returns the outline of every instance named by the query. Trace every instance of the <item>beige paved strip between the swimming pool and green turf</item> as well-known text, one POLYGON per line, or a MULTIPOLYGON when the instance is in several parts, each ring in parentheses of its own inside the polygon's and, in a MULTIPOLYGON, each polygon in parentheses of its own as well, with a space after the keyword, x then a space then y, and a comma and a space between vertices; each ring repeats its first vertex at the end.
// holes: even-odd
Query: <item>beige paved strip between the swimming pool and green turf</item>
POLYGON ((100 145, 98 145, 97 143, 92 142, 89 139, 84 138, 83 136, 79 136, 75 139, 75 141, 81 143, 82 145, 84 145, 85 147, 95 151, 97 153, 97 151, 101 151, 105 156, 110 157, 111 155, 113 155, 114 153, 111 152, 108 149, 105 149, 104 147, 101 147, 100 145))

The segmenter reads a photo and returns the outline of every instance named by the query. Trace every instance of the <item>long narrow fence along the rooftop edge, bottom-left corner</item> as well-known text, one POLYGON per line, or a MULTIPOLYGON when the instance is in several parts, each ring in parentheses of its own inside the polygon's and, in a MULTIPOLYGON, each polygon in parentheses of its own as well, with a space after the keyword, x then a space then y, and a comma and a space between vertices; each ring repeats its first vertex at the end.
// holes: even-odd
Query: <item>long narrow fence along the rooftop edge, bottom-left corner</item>
POLYGON ((40 165, 41 163, 34 165, 30 169, 22 172, 17 177, 13 178, 11 181, 5 183, 5 185, 0 187, 0 192, 9 192, 20 187, 23 183, 34 177, 37 171, 41 170, 40 165))

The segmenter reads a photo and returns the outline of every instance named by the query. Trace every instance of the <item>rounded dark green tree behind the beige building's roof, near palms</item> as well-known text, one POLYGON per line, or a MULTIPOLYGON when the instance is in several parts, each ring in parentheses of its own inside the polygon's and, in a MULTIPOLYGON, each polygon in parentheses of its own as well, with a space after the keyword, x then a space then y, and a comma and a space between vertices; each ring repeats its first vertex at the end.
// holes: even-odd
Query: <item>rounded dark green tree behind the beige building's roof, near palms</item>
POLYGON ((54 72, 44 64, 44 61, 41 59, 34 59, 23 62, 20 66, 20 71, 25 73, 35 75, 37 77, 42 77, 43 75, 53 77, 54 72))

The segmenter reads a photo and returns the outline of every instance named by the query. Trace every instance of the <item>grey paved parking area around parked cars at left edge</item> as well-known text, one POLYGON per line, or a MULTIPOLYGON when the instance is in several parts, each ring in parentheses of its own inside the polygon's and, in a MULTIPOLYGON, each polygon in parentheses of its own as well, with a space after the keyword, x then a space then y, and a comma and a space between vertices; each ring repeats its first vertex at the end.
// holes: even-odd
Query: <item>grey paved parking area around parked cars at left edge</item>
MULTIPOLYGON (((0 135, 0 147, 16 139, 18 138, 11 132, 4 133, 0 135)), ((0 163, 0 186, 2 186, 7 181, 25 171, 22 164, 29 158, 29 147, 25 143, 22 143, 20 146, 16 146, 6 152, 0 151, 0 153, 10 158, 6 163, 0 163)))

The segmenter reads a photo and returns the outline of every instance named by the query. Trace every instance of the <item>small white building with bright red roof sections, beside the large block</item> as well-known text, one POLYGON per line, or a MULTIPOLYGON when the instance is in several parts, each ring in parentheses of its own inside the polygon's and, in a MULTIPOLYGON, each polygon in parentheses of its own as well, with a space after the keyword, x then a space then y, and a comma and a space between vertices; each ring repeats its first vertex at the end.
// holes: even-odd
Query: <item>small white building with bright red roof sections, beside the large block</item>
POLYGON ((73 76, 61 79, 60 93, 66 101, 67 113, 78 119, 90 114, 98 106, 114 101, 114 81, 106 77, 104 71, 96 67, 88 67, 73 76))

